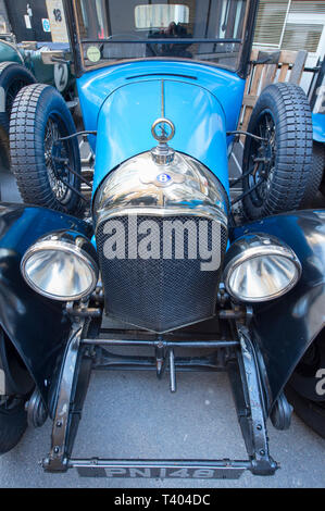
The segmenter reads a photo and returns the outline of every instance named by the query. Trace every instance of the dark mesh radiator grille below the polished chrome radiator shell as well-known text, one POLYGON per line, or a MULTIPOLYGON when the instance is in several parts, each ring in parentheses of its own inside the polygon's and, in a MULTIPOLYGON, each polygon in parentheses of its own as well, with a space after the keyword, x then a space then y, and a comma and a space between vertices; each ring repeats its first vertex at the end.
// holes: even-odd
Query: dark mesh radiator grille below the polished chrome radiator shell
MULTIPOLYGON (((154 221, 159 226, 159 252, 164 252, 163 223, 165 217, 138 215, 136 223, 138 228, 145 221, 154 221)), ((199 223, 202 222, 197 216, 171 216, 168 222, 180 221, 189 228, 184 229, 184 259, 175 257, 176 236, 170 237, 170 248, 172 247, 171 259, 129 259, 132 252, 128 250, 129 217, 118 216, 112 220, 102 221, 97 228, 97 247, 100 259, 102 282, 105 295, 105 311, 109 315, 140 326, 148 331, 163 333, 179 328, 182 326, 203 321, 213 316, 217 295, 217 286, 221 271, 201 271, 200 259, 189 259, 188 240, 197 238, 199 244, 199 223), (123 229, 112 228, 110 222, 121 222, 123 229), (111 232, 115 236, 116 245, 113 249, 124 246, 124 259, 108 259, 104 244, 111 232)), ((208 249, 212 247, 212 222, 204 220, 208 228, 208 249)), ((116 225, 116 224, 114 224, 116 225)), ((147 234, 137 234, 137 246, 147 234)), ((112 238, 111 238, 112 239, 112 238)), ((220 247, 222 258, 226 250, 227 232, 221 225, 220 247)), ((112 244, 110 242, 110 247, 112 244)), ((134 250, 135 244, 132 244, 134 250)), ((149 245, 149 249, 152 247, 149 245)), ((198 245, 199 247, 199 245, 198 245)), ((157 247, 158 249, 158 247, 157 247)), ((140 250, 139 250, 140 251, 140 250)), ((199 250, 198 253, 200 254, 199 250)), ((158 257, 155 252, 155 257, 158 257)), ((205 261, 207 262, 207 261, 205 261)))

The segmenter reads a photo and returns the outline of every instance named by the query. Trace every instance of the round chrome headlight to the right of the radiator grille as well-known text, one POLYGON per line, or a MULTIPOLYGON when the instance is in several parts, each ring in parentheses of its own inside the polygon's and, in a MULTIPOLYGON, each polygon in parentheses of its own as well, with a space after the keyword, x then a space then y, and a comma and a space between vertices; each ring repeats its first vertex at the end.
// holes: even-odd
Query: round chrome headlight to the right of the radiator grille
POLYGON ((292 289, 300 275, 301 264, 293 250, 273 236, 243 236, 226 256, 225 287, 239 301, 278 298, 292 289))

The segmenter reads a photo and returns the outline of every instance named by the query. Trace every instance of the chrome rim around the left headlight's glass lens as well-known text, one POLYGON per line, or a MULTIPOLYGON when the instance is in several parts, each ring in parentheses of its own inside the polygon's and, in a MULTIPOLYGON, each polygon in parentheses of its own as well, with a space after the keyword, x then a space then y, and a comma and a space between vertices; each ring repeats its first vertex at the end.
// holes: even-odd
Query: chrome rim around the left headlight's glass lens
MULTIPOLYGON (((85 239, 82 235, 79 236, 83 239, 85 239)), ((91 292, 96 289, 98 278, 99 278, 99 267, 95 259, 86 250, 83 250, 77 245, 74 245, 73 242, 67 241, 67 240, 65 241, 63 239, 58 239, 58 236, 55 234, 52 236, 47 236, 46 238, 39 239, 26 250, 21 261, 21 273, 26 284, 38 295, 41 295, 46 298, 50 298, 51 300, 61 301, 61 302, 79 301, 90 296, 91 292), (40 288, 39 286, 37 286, 33 282, 33 279, 28 276, 26 272, 26 264, 33 256, 35 256, 38 252, 46 252, 46 251, 49 251, 49 252, 61 251, 66 254, 73 254, 77 257, 79 260, 82 260, 82 262, 88 266, 88 270, 90 270, 91 284, 88 286, 88 288, 83 292, 63 297, 60 295, 53 295, 51 292, 48 292, 43 290, 42 288, 40 288)))

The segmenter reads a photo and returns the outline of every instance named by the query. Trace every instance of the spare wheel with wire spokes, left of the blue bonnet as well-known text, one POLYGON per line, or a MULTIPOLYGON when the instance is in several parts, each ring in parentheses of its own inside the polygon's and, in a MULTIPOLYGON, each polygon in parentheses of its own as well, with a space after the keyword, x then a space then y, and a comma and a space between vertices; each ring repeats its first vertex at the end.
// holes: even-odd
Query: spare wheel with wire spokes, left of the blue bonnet
POLYGON ((82 210, 80 154, 72 115, 54 87, 30 85, 13 103, 11 166, 25 203, 63 213, 82 210))

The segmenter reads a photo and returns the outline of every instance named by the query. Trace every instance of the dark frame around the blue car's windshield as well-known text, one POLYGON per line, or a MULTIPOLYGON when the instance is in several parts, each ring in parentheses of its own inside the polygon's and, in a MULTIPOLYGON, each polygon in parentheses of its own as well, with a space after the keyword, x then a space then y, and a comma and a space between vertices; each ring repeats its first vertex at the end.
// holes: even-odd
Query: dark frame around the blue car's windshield
MULTIPOLYGON (((238 74, 241 78, 246 78, 249 73, 249 67, 250 67, 250 54, 251 54, 251 48, 252 48, 252 41, 253 41, 253 34, 254 34, 254 28, 255 28, 255 22, 257 22, 257 13, 258 13, 258 8, 259 8, 259 1, 260 0, 247 0, 247 10, 245 14, 245 20, 243 20, 243 28, 242 28, 242 38, 241 39, 198 39, 196 38, 193 41, 202 41, 202 42, 226 42, 226 41, 232 41, 232 42, 237 42, 240 45, 239 49, 239 59, 238 59, 238 68, 237 70, 232 70, 228 66, 224 66, 220 63, 211 62, 211 61, 205 61, 205 60, 195 60, 195 59, 187 59, 183 57, 145 57, 140 59, 123 59, 123 60, 114 60, 112 62, 99 62, 98 64, 91 65, 91 66, 86 66, 85 65, 85 60, 84 60, 84 52, 83 52, 83 45, 84 43, 96 43, 96 42, 104 42, 108 39, 87 39, 83 40, 79 35, 79 28, 78 28, 78 23, 77 23, 77 17, 76 17, 76 1, 77 0, 63 0, 64 2, 64 10, 65 10, 65 16, 66 16, 66 23, 67 23, 67 29, 70 34, 70 40, 71 40, 71 46, 72 46, 72 52, 73 52, 73 58, 74 58, 74 74, 77 78, 82 77, 85 73, 92 72, 95 70, 99 68, 104 68, 104 67, 111 67, 112 65, 121 65, 125 63, 130 63, 130 62, 141 62, 141 61, 154 61, 154 62, 191 62, 192 64, 203 64, 203 65, 209 65, 212 67, 218 67, 218 68, 224 68, 227 71, 230 71, 233 73, 238 74)), ((109 39, 111 40, 111 39, 109 39)), ((179 42, 182 42, 183 39, 177 39, 179 42)), ((154 42, 155 39, 151 39, 150 43, 154 42)), ((167 39, 164 39, 164 42, 166 42, 167 39)), ((172 42, 175 42, 174 40, 171 40, 172 42)), ((188 39, 187 39, 188 41, 188 39)), ((117 41, 116 41, 117 42, 117 41)), ((118 40, 121 43, 128 43, 128 42, 134 42, 134 41, 128 41, 128 40, 118 40)), ((145 42, 148 42, 148 39, 146 39, 145 42)))

